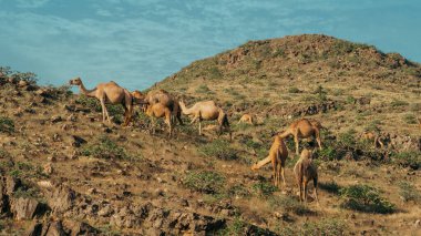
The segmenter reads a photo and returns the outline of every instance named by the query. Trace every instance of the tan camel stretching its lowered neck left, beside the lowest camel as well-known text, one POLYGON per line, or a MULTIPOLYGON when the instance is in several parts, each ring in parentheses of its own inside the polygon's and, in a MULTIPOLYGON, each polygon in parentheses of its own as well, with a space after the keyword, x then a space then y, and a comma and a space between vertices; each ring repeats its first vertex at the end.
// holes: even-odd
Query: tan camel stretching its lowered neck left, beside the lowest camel
POLYGON ((285 183, 285 162, 288 157, 288 150, 284 143, 284 140, 276 135, 274 143, 269 150, 269 155, 251 166, 253 171, 259 170, 261 166, 271 162, 274 171, 274 185, 280 187, 280 176, 283 177, 284 187, 285 183))

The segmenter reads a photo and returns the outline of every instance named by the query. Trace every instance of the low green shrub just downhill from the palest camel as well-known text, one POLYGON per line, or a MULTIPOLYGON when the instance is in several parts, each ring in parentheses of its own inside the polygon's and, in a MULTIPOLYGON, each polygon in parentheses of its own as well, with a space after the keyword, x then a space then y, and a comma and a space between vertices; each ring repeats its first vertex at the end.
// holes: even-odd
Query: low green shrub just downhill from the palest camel
POLYGON ((225 140, 215 140, 212 143, 205 144, 198 148, 198 152, 207 157, 217 157, 226 161, 237 158, 237 152, 225 140))

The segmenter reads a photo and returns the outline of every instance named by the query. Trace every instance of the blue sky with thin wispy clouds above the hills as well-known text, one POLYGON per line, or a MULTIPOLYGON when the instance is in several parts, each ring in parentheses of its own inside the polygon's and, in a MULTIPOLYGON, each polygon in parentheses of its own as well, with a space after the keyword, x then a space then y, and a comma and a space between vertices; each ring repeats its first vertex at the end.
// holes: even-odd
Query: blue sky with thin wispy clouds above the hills
POLYGON ((418 0, 0 0, 0 65, 145 89, 248 40, 324 33, 421 62, 418 0))

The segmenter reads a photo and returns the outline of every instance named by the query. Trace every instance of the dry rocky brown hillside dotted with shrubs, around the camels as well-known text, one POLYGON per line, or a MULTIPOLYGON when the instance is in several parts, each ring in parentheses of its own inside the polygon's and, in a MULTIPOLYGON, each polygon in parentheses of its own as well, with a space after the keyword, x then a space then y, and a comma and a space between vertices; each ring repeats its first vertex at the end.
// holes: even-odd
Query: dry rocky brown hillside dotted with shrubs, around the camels
POLYGON ((96 100, 0 69, 1 235, 421 234, 421 65, 399 53, 318 34, 250 41, 150 89, 214 100, 233 142, 215 122, 199 136, 187 116, 171 138, 162 121, 150 134, 140 107, 123 126, 107 105, 102 123, 96 100), (237 123, 245 113, 254 124, 237 123), (270 164, 250 170, 300 117, 325 127, 319 205, 312 183, 299 202, 292 137, 285 191, 270 164))

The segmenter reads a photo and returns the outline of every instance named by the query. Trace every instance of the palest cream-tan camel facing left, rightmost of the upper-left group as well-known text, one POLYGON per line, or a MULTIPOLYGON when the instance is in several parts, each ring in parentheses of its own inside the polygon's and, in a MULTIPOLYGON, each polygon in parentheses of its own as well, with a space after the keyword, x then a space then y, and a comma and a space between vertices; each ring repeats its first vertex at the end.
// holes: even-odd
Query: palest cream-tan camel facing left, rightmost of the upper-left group
POLYGON ((202 121, 218 121, 218 136, 223 129, 229 133, 229 140, 233 140, 233 133, 229 127, 228 115, 223 109, 217 106, 214 101, 196 102, 192 107, 187 109, 184 101, 179 101, 179 106, 185 115, 193 116, 191 124, 198 121, 198 135, 202 135, 202 121))

